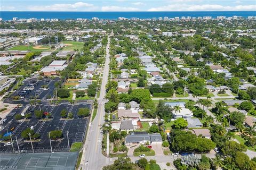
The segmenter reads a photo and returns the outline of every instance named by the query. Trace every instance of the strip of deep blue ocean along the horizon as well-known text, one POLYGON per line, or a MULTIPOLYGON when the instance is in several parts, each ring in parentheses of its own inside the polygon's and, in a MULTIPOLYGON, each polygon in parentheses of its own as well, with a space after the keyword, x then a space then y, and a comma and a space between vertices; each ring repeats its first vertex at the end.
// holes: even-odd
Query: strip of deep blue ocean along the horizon
POLYGON ((3 20, 12 20, 13 17, 20 18, 57 18, 57 19, 77 19, 85 18, 91 19, 92 17, 98 17, 99 19, 111 19, 115 20, 118 17, 124 18, 140 18, 149 19, 153 17, 164 17, 174 18, 175 16, 212 16, 216 18, 217 16, 242 16, 247 18, 248 16, 255 16, 256 11, 193 11, 193 12, 18 12, 18 11, 0 11, 0 18, 3 20))

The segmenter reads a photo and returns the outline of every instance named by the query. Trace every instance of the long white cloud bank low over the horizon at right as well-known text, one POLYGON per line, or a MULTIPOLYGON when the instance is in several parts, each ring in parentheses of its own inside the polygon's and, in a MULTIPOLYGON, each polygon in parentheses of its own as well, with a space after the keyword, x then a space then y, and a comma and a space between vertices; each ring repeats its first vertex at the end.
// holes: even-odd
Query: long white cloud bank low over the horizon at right
POLYGON ((188 5, 172 4, 149 8, 148 11, 254 11, 256 5, 222 6, 217 4, 188 5))

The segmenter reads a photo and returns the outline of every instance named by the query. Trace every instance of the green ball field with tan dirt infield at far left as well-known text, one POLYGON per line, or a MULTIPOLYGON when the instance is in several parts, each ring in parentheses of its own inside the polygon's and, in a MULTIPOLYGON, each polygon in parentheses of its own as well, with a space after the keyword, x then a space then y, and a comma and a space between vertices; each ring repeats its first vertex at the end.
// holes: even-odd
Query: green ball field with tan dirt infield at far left
POLYGON ((51 52, 52 49, 50 46, 48 45, 42 45, 42 46, 31 46, 31 45, 18 45, 18 46, 14 46, 12 48, 9 48, 8 50, 21 50, 21 51, 25 51, 25 50, 29 50, 31 52, 51 52))

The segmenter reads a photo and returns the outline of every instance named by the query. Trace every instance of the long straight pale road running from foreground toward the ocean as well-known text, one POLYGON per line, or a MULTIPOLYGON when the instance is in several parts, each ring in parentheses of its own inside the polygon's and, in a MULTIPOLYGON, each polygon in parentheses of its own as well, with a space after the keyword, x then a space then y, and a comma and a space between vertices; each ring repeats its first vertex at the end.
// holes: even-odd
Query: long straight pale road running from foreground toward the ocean
POLYGON ((102 77, 102 84, 100 88, 100 97, 98 98, 98 111, 92 123, 89 124, 89 131, 87 132, 86 141, 84 144, 83 156, 81 160, 82 169, 98 170, 106 165, 106 157, 101 153, 102 134, 100 127, 104 123, 105 109, 104 99, 106 94, 106 84, 108 82, 109 73, 109 44, 110 39, 108 36, 108 44, 106 47, 106 62, 102 77))

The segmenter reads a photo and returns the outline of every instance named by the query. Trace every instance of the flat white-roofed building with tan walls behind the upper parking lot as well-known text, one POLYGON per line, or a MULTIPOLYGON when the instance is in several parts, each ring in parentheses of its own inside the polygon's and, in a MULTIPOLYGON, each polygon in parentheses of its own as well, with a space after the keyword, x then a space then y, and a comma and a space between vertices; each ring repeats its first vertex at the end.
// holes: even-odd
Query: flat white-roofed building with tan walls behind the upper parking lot
POLYGON ((40 72, 43 72, 45 76, 58 75, 58 71, 64 70, 68 64, 66 60, 53 61, 49 66, 44 67, 40 72))

